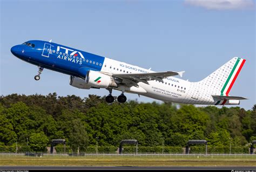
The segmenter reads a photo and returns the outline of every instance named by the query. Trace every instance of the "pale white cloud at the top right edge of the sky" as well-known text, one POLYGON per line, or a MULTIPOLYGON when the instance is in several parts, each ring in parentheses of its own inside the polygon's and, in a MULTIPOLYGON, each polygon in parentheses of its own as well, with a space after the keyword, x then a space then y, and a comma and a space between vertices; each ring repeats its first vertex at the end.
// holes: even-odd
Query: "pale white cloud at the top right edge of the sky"
POLYGON ((253 0, 185 0, 186 4, 214 10, 253 9, 253 0))

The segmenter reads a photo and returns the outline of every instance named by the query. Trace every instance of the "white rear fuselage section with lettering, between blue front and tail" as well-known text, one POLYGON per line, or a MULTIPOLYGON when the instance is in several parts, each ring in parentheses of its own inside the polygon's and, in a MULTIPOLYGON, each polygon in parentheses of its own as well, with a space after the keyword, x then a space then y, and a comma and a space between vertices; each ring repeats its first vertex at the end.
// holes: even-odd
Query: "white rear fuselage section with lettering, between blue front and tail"
MULTIPOLYGON (((107 73, 152 73, 154 71, 147 70, 142 67, 130 65, 127 63, 123 63, 121 61, 105 58, 102 72, 107 73)), ((149 84, 144 84, 143 82, 139 82, 139 87, 143 88, 146 92, 136 92, 130 91, 131 93, 144 95, 149 98, 170 101, 170 102, 178 102, 184 104, 207 104, 214 105, 214 100, 211 95, 205 95, 205 97, 201 98, 198 96, 196 92, 197 89, 194 89, 196 82, 189 82, 183 79, 175 78, 175 77, 167 77, 163 79, 164 82, 160 82, 157 80, 148 81, 149 84)), ((120 90, 120 88, 116 88, 120 90)))

